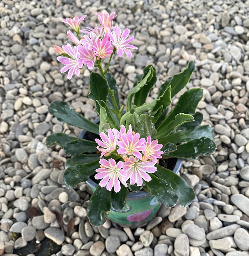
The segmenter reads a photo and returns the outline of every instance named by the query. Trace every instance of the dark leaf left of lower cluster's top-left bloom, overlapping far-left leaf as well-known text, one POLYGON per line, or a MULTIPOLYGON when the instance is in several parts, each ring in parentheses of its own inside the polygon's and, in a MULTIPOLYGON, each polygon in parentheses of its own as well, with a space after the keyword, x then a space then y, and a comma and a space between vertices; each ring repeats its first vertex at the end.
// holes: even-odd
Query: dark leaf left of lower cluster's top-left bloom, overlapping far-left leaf
POLYGON ((75 140, 66 143, 63 149, 68 155, 77 155, 86 152, 96 152, 97 146, 98 144, 95 141, 76 138, 75 140))

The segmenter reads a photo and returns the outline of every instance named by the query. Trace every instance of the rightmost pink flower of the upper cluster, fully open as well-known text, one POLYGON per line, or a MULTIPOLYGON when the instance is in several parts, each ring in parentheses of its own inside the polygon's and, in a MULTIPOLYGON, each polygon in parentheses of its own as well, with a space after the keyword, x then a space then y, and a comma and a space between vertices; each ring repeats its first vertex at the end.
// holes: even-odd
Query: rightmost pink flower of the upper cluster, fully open
POLYGON ((136 46, 129 44, 134 39, 134 36, 131 36, 127 39, 130 33, 129 28, 124 29, 123 33, 121 33, 120 27, 114 27, 113 32, 108 29, 108 32, 112 44, 117 48, 118 57, 122 57, 123 53, 125 52, 127 57, 130 58, 131 51, 127 48, 135 50, 138 49, 136 46))

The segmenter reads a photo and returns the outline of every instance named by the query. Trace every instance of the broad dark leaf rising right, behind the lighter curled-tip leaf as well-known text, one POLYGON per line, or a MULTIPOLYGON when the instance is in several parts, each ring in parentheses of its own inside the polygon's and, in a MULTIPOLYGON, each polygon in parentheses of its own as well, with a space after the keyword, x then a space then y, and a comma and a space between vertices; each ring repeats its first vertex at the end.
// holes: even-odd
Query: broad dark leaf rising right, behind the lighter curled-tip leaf
POLYGON ((183 95, 179 97, 175 108, 170 111, 168 116, 159 125, 157 131, 164 129, 164 127, 175 119, 175 116, 179 113, 190 114, 193 116, 195 114, 195 109, 197 104, 202 99, 203 89, 192 88, 186 91, 183 95))

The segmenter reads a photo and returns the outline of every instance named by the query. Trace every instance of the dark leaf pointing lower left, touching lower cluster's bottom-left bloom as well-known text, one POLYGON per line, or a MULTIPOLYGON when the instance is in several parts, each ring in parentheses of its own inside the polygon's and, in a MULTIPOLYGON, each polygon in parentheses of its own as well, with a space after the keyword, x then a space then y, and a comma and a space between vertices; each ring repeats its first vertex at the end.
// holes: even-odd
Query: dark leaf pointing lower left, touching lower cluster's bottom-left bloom
POLYGON ((66 169, 63 181, 68 189, 74 188, 78 183, 88 180, 99 167, 99 160, 91 163, 75 164, 66 169))

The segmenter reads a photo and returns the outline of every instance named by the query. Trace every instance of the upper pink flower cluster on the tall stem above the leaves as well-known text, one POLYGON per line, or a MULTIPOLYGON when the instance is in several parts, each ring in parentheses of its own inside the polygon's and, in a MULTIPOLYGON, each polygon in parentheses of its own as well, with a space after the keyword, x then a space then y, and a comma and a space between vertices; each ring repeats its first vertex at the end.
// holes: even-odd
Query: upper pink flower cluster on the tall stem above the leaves
POLYGON ((59 62, 65 66, 61 69, 61 72, 68 71, 67 78, 71 79, 73 73, 76 76, 80 75, 80 69, 83 65, 87 65, 87 68, 93 69, 93 67, 99 67, 101 72, 105 74, 110 64, 112 54, 117 51, 118 57, 122 57, 123 53, 126 53, 127 57, 131 57, 131 51, 129 49, 137 49, 136 46, 129 44, 134 36, 128 38, 130 30, 128 28, 121 32, 120 27, 113 27, 112 20, 116 17, 112 12, 110 15, 105 12, 103 14, 95 12, 98 16, 100 26, 96 25, 95 29, 86 27, 86 29, 79 29, 80 22, 84 20, 86 15, 78 18, 77 16, 62 20, 62 22, 70 25, 76 35, 70 30, 67 31, 67 35, 70 40, 75 44, 72 46, 68 43, 60 46, 55 45, 54 50, 61 54, 57 58, 59 62), (80 36, 79 31, 84 35, 80 36), (102 70, 101 60, 109 58, 109 63, 105 71, 102 70))

